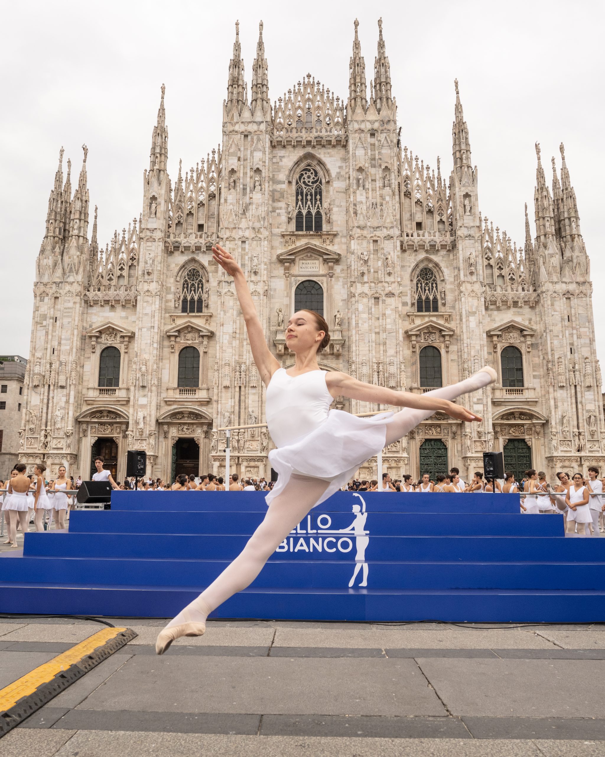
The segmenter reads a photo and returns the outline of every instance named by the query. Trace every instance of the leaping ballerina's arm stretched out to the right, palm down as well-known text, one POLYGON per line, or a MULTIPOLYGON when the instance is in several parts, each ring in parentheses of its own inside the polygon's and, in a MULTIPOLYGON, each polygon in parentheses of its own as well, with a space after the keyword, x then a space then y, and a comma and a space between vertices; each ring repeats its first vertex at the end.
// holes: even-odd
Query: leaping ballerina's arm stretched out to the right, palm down
POLYGON ((450 400, 441 397, 431 397, 430 394, 412 394, 411 391, 395 391, 384 386, 366 384, 356 378, 340 371, 326 373, 326 385, 330 394, 337 397, 339 394, 352 400, 364 402, 380 402, 396 407, 412 407, 415 410, 442 410, 448 416, 461 421, 480 421, 481 416, 476 415, 465 407, 456 405, 450 400))

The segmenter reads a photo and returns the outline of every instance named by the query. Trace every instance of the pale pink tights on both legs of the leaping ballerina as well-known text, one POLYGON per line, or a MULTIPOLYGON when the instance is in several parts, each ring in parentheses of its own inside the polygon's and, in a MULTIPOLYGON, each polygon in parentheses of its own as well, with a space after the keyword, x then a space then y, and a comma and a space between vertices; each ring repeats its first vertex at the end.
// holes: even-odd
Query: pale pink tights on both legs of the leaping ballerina
MULTIPOLYGON (((466 380, 427 392, 432 397, 455 400, 462 394, 476 391, 492 382, 488 373, 476 373, 466 380)), ((404 408, 396 413, 386 426, 386 444, 401 439, 420 421, 433 415, 434 410, 412 410, 404 408)), ((245 589, 254 581, 262 566, 271 557, 287 535, 296 528, 318 499, 324 494, 329 482, 310 476, 290 475, 284 491, 271 500, 267 514, 248 540, 244 550, 225 570, 204 590, 196 600, 188 604, 169 622, 166 628, 186 622, 205 623, 206 617, 234 593, 245 589)))

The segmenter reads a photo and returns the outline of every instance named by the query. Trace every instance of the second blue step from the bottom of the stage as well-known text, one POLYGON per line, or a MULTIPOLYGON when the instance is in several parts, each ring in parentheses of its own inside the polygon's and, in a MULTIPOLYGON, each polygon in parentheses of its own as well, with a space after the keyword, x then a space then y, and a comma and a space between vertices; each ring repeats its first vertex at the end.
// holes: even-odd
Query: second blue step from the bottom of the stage
MULTIPOLYGON (((78 577, 82 584, 116 586, 206 587, 229 564, 204 559, 101 559, 23 557, 3 565, 4 581, 20 581, 23 574, 44 576, 48 584, 78 577)), ((253 587, 339 589, 347 587, 353 564, 330 560, 271 559, 253 587)), ((395 562, 370 561, 373 589, 550 589, 605 587, 605 562, 395 562)), ((358 584, 361 576, 355 581, 358 584)), ((200 589, 201 590, 201 589, 200 589)))

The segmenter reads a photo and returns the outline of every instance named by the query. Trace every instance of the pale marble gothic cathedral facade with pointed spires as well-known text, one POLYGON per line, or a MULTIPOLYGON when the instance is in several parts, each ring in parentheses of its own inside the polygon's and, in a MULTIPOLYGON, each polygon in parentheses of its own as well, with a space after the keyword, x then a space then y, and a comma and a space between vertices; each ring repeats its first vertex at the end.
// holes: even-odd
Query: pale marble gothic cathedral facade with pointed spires
MULTIPOLYGON (((467 478, 484 450, 503 450, 517 474, 603 470, 590 266, 563 145, 552 191, 536 145, 535 236, 526 206, 517 248, 479 212, 458 82, 449 176, 402 146, 378 26, 369 90, 355 21, 346 101, 308 74, 271 105, 262 23, 250 96, 236 24, 222 145, 185 174, 179 161, 173 183, 162 87, 141 215, 105 248, 96 207, 88 240, 88 151, 72 193, 61 149, 36 264, 24 462, 87 478, 100 453, 122 480, 137 449, 154 477, 225 473, 219 429, 265 412, 233 282, 213 263, 219 241, 284 366, 284 325, 310 307, 331 327, 324 369, 417 393, 485 363, 498 372, 462 398, 479 425, 436 413, 383 450, 392 475, 458 465, 467 478)), ((270 447, 263 428, 234 431, 231 472, 268 477, 270 447)), ((375 477, 376 459, 360 475, 375 477)))

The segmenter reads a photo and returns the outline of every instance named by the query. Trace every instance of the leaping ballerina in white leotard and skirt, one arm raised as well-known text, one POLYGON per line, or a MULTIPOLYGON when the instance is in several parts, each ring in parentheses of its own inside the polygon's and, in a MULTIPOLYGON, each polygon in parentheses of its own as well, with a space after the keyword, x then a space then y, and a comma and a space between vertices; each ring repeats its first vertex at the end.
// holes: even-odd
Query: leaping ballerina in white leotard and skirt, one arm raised
POLYGON ((493 369, 484 367, 458 384, 427 394, 411 394, 365 384, 343 372, 323 371, 317 355, 327 347, 330 335, 327 322, 312 310, 299 310, 287 322, 286 344, 295 363, 286 370, 268 348, 244 272, 234 257, 218 245, 213 248, 213 258, 234 278, 253 359, 267 387, 266 419, 277 447, 269 452, 269 461, 278 472, 278 481, 265 497, 265 519, 244 550, 160 632, 158 654, 163 654, 179 637, 203 634, 209 613, 249 586, 296 524, 309 510, 339 491, 365 460, 407 435, 436 410, 458 420, 479 421, 479 416, 452 400, 497 378, 493 369), (405 410, 358 418, 342 410, 330 410, 330 404, 339 396, 405 410))

